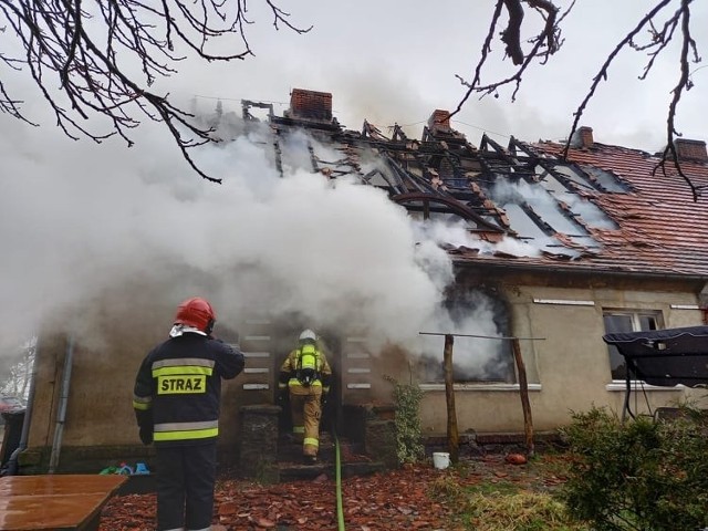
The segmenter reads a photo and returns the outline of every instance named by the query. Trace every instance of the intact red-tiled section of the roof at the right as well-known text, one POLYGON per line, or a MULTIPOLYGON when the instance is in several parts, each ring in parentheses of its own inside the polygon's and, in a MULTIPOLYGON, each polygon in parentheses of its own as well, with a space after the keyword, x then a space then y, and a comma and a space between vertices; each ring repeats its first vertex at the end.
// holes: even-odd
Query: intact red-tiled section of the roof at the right
MULTIPOLYGON (((564 145, 543 142, 529 145, 542 156, 560 156, 564 145)), ((628 185, 626 192, 586 192, 606 212, 616 229, 589 228, 600 244, 593 253, 559 264, 549 254, 518 257, 518 264, 592 269, 597 272, 708 275, 708 197, 694 201, 686 180, 670 163, 666 175, 658 168, 660 156, 620 146, 594 144, 591 149, 571 149, 568 162, 613 173, 628 185)), ((683 171, 697 186, 708 186, 708 164, 685 162, 683 171)), ((559 238, 564 243, 568 238, 559 238)), ((568 246, 570 247, 570 246, 568 246)), ((477 254, 471 260, 498 261, 477 254)))

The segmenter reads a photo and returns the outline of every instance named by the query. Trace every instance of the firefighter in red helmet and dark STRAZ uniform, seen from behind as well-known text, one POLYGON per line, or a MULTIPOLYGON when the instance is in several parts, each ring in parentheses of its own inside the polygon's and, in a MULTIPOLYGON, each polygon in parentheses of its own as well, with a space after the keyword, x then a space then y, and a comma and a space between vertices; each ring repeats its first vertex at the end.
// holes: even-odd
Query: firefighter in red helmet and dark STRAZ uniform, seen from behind
POLYGON ((221 379, 235 378, 243 354, 211 336, 211 304, 179 304, 169 339, 153 348, 135 378, 140 440, 155 444, 157 529, 210 529, 221 379))

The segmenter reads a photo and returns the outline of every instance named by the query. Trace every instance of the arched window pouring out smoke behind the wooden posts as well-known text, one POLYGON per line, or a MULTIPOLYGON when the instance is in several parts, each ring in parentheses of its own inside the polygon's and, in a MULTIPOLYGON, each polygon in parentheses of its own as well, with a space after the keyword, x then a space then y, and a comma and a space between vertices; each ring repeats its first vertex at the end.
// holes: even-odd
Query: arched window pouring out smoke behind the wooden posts
MULTIPOLYGON (((507 305, 493 293, 458 289, 438 319, 440 333, 455 335, 452 375, 457 383, 513 383, 513 356, 508 336, 507 305), (475 337, 469 337, 475 336, 475 337)), ((423 344, 420 379, 442 383, 445 339, 427 336, 423 344)))

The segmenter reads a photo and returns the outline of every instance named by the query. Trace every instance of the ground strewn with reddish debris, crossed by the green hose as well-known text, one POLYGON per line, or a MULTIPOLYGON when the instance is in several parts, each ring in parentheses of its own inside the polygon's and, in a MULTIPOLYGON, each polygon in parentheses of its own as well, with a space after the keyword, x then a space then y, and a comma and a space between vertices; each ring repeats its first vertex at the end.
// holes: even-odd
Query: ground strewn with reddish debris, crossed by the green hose
MULTIPOLYGON (((462 461, 438 470, 431 462, 373 476, 342 480, 342 507, 350 531, 454 531, 448 507, 431 492, 446 485, 516 483, 548 491, 562 485, 562 457, 539 456, 523 465, 504 456, 462 461), (437 489, 435 487, 438 487, 437 489)), ((273 486, 221 478, 215 500, 214 531, 336 530, 336 483, 333 473, 311 481, 273 486)), ((155 522, 155 494, 114 498, 104 508, 100 531, 147 531, 155 522)), ((461 528, 460 528, 461 529, 461 528)))

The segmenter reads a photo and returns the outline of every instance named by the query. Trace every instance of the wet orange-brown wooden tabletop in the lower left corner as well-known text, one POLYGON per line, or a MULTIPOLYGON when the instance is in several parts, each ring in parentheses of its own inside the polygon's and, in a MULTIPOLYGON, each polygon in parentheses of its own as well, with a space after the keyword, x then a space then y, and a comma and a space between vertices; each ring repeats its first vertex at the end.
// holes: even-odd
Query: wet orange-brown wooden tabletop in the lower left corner
POLYGON ((119 475, 1 477, 0 531, 97 529, 103 506, 127 479, 119 475))

